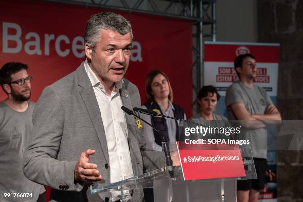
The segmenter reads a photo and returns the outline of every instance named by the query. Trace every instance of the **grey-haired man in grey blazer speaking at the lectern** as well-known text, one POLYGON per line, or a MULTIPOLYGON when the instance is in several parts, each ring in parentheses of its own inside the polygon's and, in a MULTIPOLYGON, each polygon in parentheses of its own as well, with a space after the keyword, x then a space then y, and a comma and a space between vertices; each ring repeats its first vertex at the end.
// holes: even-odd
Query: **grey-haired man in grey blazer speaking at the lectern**
MULTIPOLYGON (((164 154, 145 148, 143 128, 121 110, 141 105, 137 87, 123 78, 132 40, 131 25, 121 15, 91 16, 84 38, 87 59, 43 90, 23 171, 52 188, 51 202, 120 201, 121 192, 90 194, 88 187, 163 167, 164 154)), ((124 191, 123 200, 141 202, 143 192, 124 191)))

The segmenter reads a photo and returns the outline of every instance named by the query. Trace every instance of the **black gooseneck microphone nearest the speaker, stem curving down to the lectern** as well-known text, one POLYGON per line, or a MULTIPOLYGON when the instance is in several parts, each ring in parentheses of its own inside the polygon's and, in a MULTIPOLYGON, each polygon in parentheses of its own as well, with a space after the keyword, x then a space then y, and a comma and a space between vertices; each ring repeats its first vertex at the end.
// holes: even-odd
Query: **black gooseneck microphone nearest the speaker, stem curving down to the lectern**
MULTIPOLYGON (((159 129, 157 129, 156 127, 152 126, 150 123, 148 123, 147 121, 143 120, 142 118, 140 118, 139 116, 137 116, 137 114, 135 114, 132 110, 126 108, 125 106, 121 106, 121 109, 127 113, 128 115, 133 115, 135 116, 136 118, 140 119, 141 121, 143 121, 144 123, 148 124, 149 126, 151 126, 155 131, 157 131, 158 133, 160 133, 162 135, 162 138, 163 138, 163 142, 164 142, 164 153, 165 153, 165 159, 166 159, 166 166, 172 166, 172 159, 171 159, 171 156, 170 156, 170 151, 169 151, 169 148, 167 146, 167 143, 165 142, 165 138, 163 136, 163 134, 161 133, 161 131, 159 129)), ((134 108, 135 109, 135 108, 134 108)), ((136 108, 136 109, 140 109, 140 108, 136 108)), ((144 110, 144 109, 143 109, 144 110)), ((154 111, 152 111, 154 112, 154 111)), ((154 112, 155 115, 157 115, 156 112, 154 112)), ((153 114, 153 113, 152 113, 153 114)), ((148 114, 149 115, 149 114, 148 114)), ((173 170, 169 170, 169 175, 171 178, 174 178, 174 171, 173 170)))

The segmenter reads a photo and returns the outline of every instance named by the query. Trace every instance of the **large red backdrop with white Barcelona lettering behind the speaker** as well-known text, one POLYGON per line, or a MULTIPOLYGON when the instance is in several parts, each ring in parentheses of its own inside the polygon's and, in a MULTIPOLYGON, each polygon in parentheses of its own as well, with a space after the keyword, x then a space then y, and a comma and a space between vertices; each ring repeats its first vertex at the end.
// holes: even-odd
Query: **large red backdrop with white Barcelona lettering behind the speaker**
MULTIPOLYGON (((0 1, 0 66, 18 61, 29 66, 32 101, 43 88, 74 71, 84 61, 86 21, 104 10, 37 1, 0 1)), ((174 102, 191 116, 192 26, 188 21, 120 13, 133 26, 134 43, 126 78, 145 101, 145 78, 153 69, 170 78, 174 102)), ((6 98, 1 90, 0 100, 6 98)))

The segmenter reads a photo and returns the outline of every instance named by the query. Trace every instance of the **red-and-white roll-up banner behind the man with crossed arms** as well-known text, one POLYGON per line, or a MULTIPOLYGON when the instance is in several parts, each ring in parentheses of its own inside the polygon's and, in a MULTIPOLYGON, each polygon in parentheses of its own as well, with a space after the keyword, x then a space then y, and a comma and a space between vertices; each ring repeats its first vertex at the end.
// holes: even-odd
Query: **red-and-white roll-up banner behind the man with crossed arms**
MULTIPOLYGON (((215 86, 222 96, 215 113, 226 116, 225 92, 238 80, 234 59, 240 54, 254 55, 257 62, 254 83, 263 87, 273 103, 277 104, 279 46, 272 43, 205 42, 204 85, 215 86)), ((268 136, 271 137, 270 133, 274 132, 269 130, 268 136)), ((276 151, 268 151, 267 161, 266 185, 260 193, 259 202, 277 202, 276 151)))

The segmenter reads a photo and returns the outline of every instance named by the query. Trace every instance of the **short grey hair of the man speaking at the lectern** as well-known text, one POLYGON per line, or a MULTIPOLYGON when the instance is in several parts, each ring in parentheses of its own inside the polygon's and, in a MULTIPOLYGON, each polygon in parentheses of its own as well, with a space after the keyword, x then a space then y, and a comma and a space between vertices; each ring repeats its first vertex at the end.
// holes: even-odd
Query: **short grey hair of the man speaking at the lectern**
POLYGON ((101 12, 94 14, 85 26, 84 43, 88 43, 93 51, 100 38, 101 29, 113 30, 122 35, 132 32, 132 26, 122 15, 113 12, 101 12))

